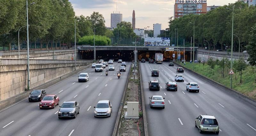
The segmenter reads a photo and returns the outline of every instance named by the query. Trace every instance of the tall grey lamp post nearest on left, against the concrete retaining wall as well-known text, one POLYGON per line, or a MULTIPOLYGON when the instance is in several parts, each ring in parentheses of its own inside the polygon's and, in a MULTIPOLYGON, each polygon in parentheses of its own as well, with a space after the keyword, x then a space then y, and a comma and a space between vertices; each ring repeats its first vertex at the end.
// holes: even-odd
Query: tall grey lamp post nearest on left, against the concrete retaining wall
MULTIPOLYGON (((30 5, 35 4, 34 2, 31 3, 30 5)), ((28 90, 30 88, 30 80, 29 80, 29 41, 28 41, 28 0, 26 0, 26 9, 27 9, 27 57, 28 57, 28 66, 27 66, 27 70, 28 70, 28 90)))

